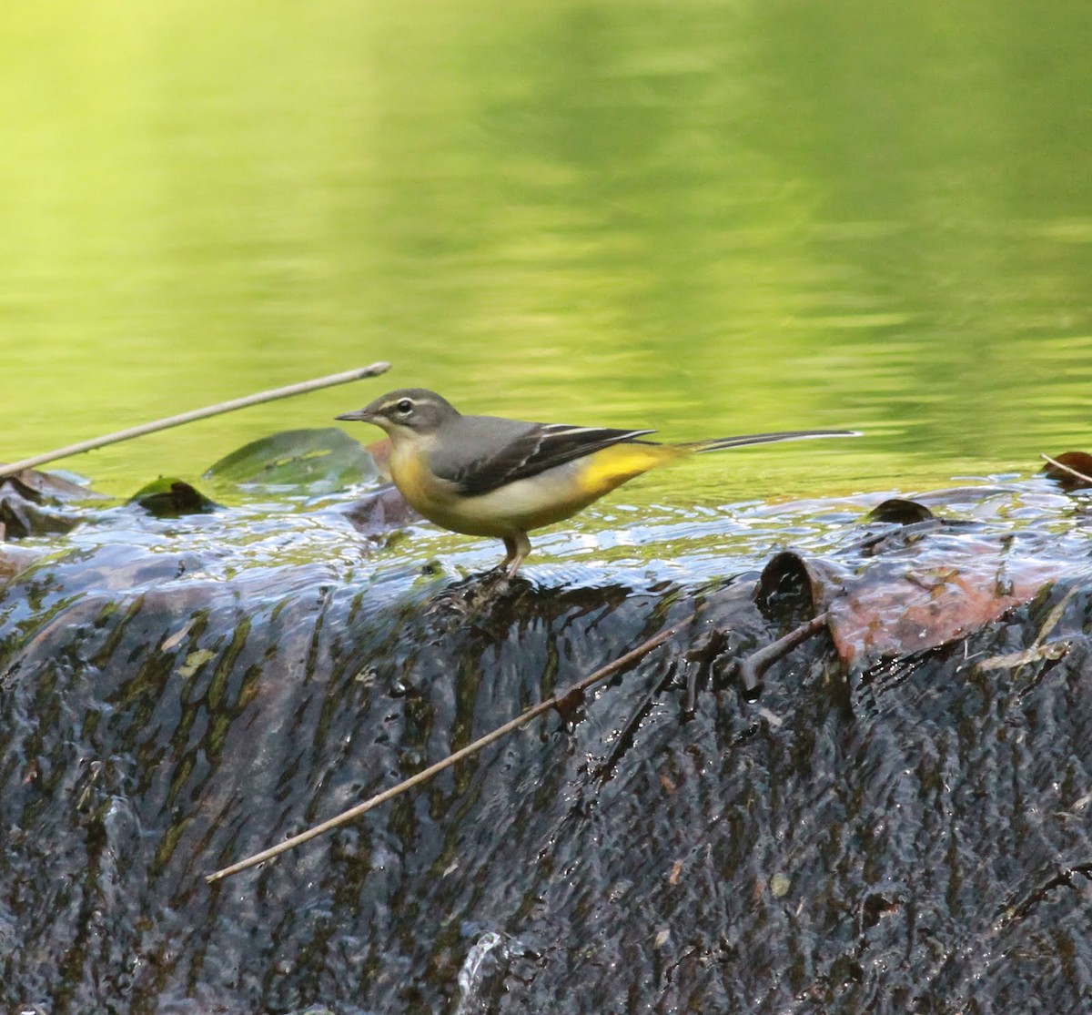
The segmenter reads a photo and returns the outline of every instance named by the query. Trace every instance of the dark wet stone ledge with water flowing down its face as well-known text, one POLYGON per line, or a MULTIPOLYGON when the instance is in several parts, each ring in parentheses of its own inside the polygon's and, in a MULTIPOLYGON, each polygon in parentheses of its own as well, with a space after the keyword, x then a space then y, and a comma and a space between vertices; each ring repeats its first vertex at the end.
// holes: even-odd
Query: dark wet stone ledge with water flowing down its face
POLYGON ((746 562, 506 586, 377 570, 335 511, 173 526, 69 536, 0 592, 5 1010, 1064 1012, 1092 995, 1079 574, 864 672, 812 639, 748 701, 731 660, 791 622, 755 606, 746 562), (233 524, 246 539, 225 546, 233 524), (1068 591, 1046 632, 1068 651, 982 665, 1033 645, 1068 591), (205 884, 696 605, 573 721, 205 884))

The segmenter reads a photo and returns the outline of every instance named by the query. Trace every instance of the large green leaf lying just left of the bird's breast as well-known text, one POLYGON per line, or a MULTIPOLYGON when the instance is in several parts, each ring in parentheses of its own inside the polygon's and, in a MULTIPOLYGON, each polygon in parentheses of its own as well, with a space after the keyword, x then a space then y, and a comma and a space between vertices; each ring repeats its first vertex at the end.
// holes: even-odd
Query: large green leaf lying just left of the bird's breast
POLYGON ((376 463, 344 430, 282 430, 222 458, 204 479, 260 489, 300 488, 331 493, 373 481, 376 463))

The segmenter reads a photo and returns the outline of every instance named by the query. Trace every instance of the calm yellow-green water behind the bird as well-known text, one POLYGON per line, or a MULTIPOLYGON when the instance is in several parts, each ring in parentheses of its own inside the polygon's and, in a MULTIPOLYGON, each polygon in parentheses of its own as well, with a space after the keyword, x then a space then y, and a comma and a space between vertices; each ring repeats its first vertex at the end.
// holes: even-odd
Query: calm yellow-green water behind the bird
POLYGON ((128 493, 403 385, 867 432, 637 503, 1092 449, 1090 29, 1016 0, 9 0, 0 459, 381 358, 63 465, 128 493))

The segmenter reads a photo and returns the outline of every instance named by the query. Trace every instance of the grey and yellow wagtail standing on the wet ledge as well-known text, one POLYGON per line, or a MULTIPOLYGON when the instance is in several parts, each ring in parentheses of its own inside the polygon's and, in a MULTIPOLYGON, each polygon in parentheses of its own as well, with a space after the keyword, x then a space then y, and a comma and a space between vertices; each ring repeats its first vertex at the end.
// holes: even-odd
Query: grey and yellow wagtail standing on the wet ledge
POLYGON ((688 444, 655 444, 653 430, 464 416, 435 391, 401 388, 339 420, 373 423, 391 438, 391 479, 429 521, 505 541, 515 575, 527 532, 561 521, 627 480, 688 455, 856 430, 785 430, 688 444))

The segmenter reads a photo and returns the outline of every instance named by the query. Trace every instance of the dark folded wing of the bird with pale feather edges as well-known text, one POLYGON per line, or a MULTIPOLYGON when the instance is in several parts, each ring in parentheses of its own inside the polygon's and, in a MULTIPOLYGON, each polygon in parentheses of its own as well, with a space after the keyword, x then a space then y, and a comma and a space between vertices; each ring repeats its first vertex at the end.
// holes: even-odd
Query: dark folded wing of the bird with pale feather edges
POLYGON ((459 493, 474 497, 651 433, 461 416, 431 465, 459 493))

